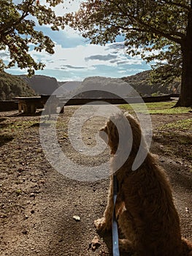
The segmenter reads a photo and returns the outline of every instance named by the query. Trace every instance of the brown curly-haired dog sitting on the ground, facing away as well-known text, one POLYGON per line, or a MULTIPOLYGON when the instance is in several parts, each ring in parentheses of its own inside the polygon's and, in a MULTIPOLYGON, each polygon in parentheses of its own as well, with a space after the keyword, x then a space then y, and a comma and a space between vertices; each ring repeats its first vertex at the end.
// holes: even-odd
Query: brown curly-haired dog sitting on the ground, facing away
MULTIPOLYGON (((115 205, 118 226, 124 239, 120 249, 137 256, 184 256, 192 255, 192 243, 181 237, 180 220, 174 207, 172 189, 162 167, 156 163, 147 146, 138 122, 128 114, 112 116, 101 129, 103 138, 111 149, 111 170, 118 178, 118 197, 115 205), (130 129, 126 128, 127 121, 130 129), (118 124, 115 126, 115 124, 118 124), (130 133, 131 131, 131 133, 130 133), (107 135, 104 136, 104 132, 107 135), (131 136, 130 136, 131 135, 131 136), (121 143, 119 143, 120 138, 121 143), (144 162, 132 170, 134 159, 142 141, 144 162), (131 151, 123 165, 127 148, 131 151)), ((141 153, 142 154, 142 153, 141 153)), ((104 217, 94 224, 98 230, 110 230, 113 211, 112 176, 104 217)))

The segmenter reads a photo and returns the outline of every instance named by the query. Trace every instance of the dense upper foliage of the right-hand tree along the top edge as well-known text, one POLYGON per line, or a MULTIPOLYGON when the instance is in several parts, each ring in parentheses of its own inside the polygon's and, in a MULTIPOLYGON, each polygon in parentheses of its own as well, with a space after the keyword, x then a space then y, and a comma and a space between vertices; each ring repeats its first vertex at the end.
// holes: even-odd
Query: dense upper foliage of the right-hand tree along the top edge
POLYGON ((190 10, 188 0, 88 0, 78 12, 66 15, 66 22, 92 43, 104 45, 124 34, 127 45, 145 50, 153 45, 156 50, 170 42, 181 43, 190 10))

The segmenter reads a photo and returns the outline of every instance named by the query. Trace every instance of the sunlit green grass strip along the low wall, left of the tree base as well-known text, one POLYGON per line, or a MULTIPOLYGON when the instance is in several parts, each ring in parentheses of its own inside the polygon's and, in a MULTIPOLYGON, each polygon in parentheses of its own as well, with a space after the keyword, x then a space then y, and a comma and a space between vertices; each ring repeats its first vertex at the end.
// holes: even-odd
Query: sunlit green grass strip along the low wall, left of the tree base
POLYGON ((128 112, 139 112, 145 113, 145 105, 150 114, 164 114, 164 115, 174 115, 188 113, 191 108, 172 108, 175 105, 175 102, 151 102, 151 103, 141 103, 141 104, 132 104, 132 105, 120 105, 120 108, 128 112))

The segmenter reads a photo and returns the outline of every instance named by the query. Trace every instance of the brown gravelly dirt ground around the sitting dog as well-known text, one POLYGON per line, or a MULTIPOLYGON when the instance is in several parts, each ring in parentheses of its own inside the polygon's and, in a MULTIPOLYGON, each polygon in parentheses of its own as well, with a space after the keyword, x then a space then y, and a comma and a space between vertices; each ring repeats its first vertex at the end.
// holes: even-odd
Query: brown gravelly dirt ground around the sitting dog
MULTIPOLYGON (((66 123, 74 108, 67 107, 58 126, 58 140, 71 159, 91 167, 109 157, 79 157, 70 146, 66 123)), ((184 237, 191 232, 191 162, 180 152, 191 154, 189 145, 169 140, 172 154, 167 150, 167 138, 158 127, 191 113, 177 116, 153 115, 151 151, 159 155, 173 187, 174 201, 180 215, 184 237), (180 146, 180 148, 178 148, 180 146), (178 149, 178 152, 176 152, 178 149), (176 153, 175 153, 176 152, 176 153)), ((83 138, 95 145, 93 134, 104 118, 96 118, 83 128, 83 138)), ((109 180, 76 181, 58 173, 45 158, 39 141, 39 116, 15 116, 1 113, 1 173, 0 173, 0 252, 9 256, 69 256, 112 255, 111 234, 99 237, 101 246, 93 252, 90 244, 98 236, 93 220, 101 217, 106 204, 109 180), (80 217, 80 221, 74 220, 80 217)))

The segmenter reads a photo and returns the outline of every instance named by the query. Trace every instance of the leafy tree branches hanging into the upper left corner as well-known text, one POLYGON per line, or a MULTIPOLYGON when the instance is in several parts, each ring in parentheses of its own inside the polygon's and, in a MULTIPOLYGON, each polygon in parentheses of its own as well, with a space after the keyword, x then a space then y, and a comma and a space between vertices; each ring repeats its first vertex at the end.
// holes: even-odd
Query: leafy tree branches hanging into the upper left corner
POLYGON ((35 26, 39 23, 40 26, 49 25, 53 30, 64 29, 62 17, 57 17, 51 8, 62 2, 46 0, 47 4, 43 5, 40 0, 0 1, 0 50, 9 50, 10 59, 9 64, 0 59, 1 70, 18 64, 20 69, 28 68, 28 74, 33 75, 34 70, 45 67, 31 57, 29 47, 54 53, 53 41, 35 26))

